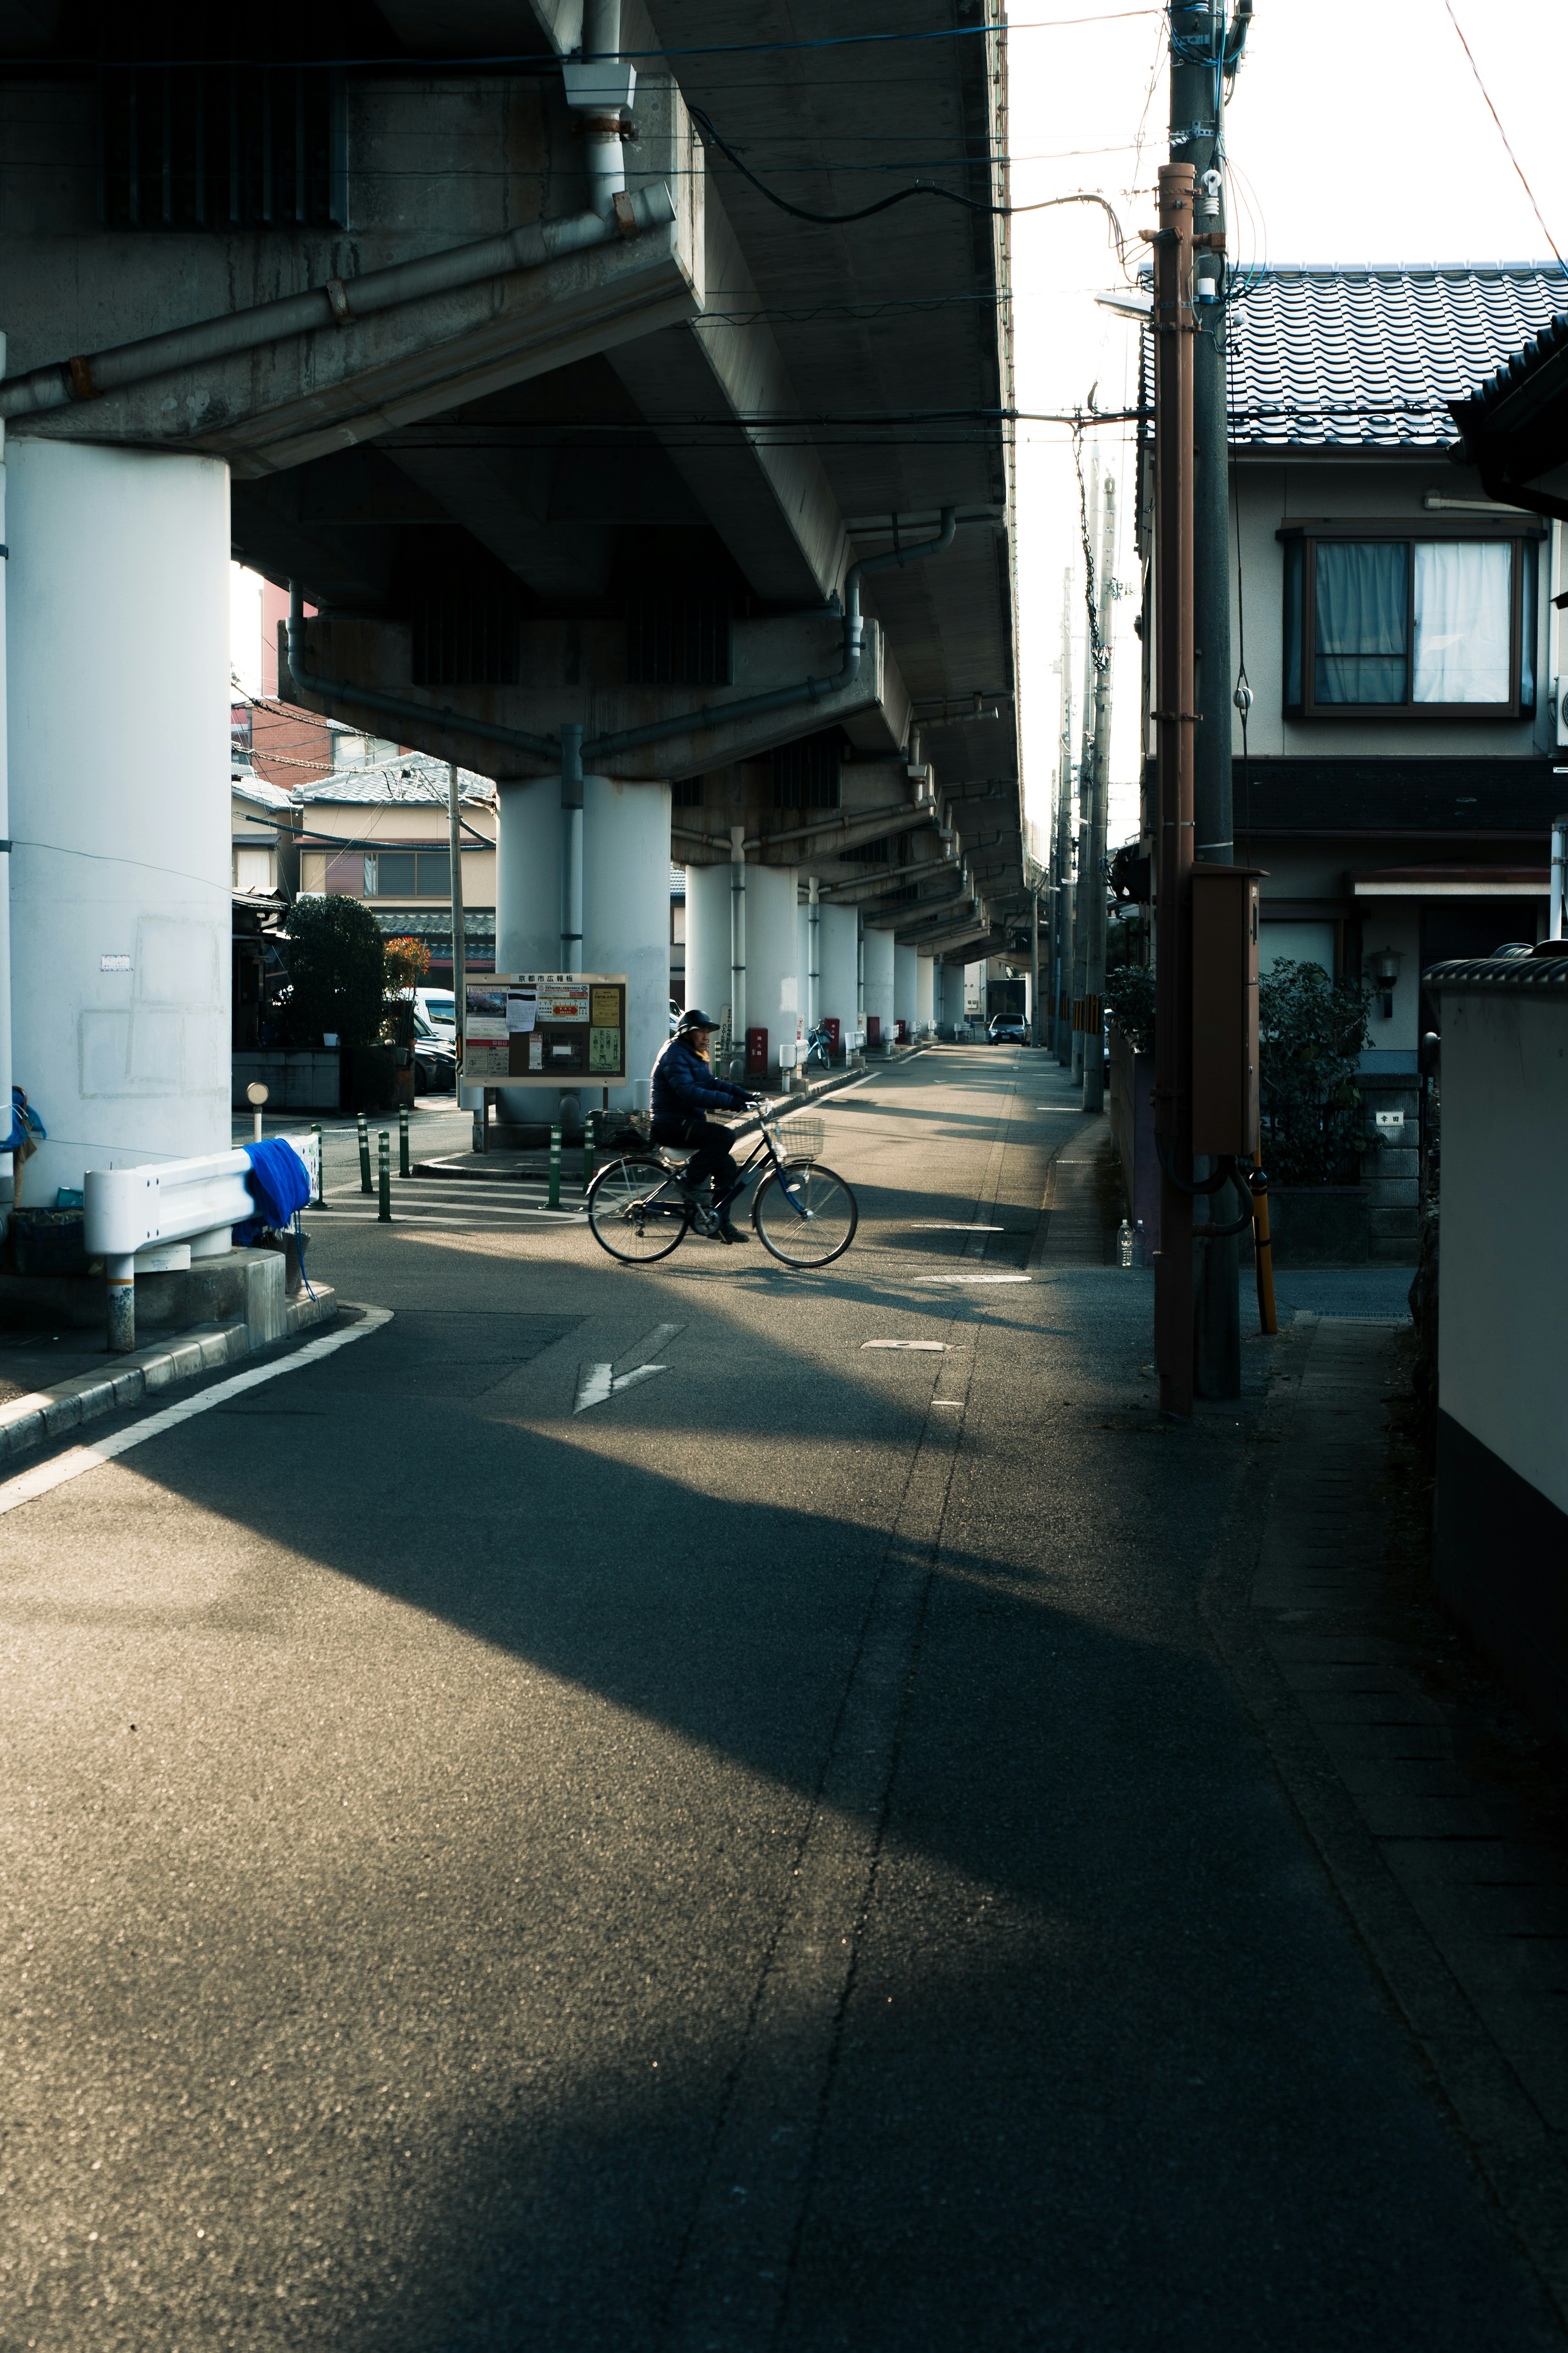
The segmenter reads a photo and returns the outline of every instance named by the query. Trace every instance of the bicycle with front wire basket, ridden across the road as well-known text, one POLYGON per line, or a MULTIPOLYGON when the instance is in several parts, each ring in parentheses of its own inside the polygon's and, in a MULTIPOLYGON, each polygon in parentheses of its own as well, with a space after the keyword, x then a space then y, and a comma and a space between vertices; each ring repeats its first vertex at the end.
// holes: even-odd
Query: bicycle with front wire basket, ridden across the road
MULTIPOLYGON (((762 1179, 752 1195, 752 1231, 780 1266, 832 1266, 856 1238, 860 1207, 842 1176, 816 1158, 820 1120, 795 1120, 780 1132, 783 1106, 759 1113, 757 1141, 741 1167, 741 1188, 762 1179)), ((588 1231, 599 1249, 625 1266, 651 1266, 679 1249, 691 1228, 717 1235, 717 1209, 703 1207, 682 1186, 684 1160, 670 1160, 658 1144, 623 1160, 609 1160, 588 1186, 588 1231)))

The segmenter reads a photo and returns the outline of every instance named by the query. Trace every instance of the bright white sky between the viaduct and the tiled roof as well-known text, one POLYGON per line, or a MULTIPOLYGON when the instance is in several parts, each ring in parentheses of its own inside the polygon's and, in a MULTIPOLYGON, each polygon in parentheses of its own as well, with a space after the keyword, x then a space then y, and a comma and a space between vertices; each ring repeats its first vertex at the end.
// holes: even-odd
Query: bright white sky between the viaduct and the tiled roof
MULTIPOLYGON (((1563 0, 1453 0, 1502 129, 1568 256, 1563 0)), ((1166 146, 1159 9, 1126 0, 1009 0, 1013 205, 1100 191, 1126 231, 1152 221, 1166 146), (1088 16, 1048 28, 1051 19, 1088 16), (1138 136, 1143 129, 1143 148, 1138 136)), ((1552 261, 1443 0, 1255 0, 1225 122, 1234 165, 1232 252, 1255 261, 1552 261), (1239 235, 1237 235, 1239 231, 1239 235)), ((1095 306, 1121 282, 1098 207, 1016 216, 1013 325, 1020 409, 1098 407, 1135 395, 1138 327, 1095 306)), ((1131 266, 1135 261, 1128 256, 1131 266)), ((1563 294, 1568 308, 1568 280, 1563 294)), ((1093 435, 1128 520, 1131 447, 1093 435)), ((1088 435, 1086 435, 1088 442, 1088 435)), ((1048 821, 1060 727, 1063 567, 1072 565, 1074 739, 1084 673, 1084 567, 1072 435, 1018 426, 1018 607, 1025 807, 1048 821)), ((1135 579, 1131 529, 1117 574, 1135 579)), ((1135 600, 1117 609, 1112 845, 1138 831, 1135 600)))

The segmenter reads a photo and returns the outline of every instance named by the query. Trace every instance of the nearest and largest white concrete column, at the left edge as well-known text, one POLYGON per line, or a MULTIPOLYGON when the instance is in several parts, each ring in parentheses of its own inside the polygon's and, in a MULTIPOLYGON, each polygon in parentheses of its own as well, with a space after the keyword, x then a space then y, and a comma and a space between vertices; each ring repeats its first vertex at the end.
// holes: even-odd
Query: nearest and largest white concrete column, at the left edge
POLYGON ((228 468, 12 438, 5 471, 12 1061, 52 1205, 228 1148, 228 468))

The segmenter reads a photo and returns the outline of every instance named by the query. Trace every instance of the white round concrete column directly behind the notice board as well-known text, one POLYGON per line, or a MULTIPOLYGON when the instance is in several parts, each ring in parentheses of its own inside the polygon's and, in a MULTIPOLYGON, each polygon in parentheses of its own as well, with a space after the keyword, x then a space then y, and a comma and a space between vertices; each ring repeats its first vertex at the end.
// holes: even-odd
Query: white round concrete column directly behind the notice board
MULTIPOLYGON (((583 776, 583 807, 562 809, 559 786, 503 784, 496 845, 496 969, 559 972, 562 849, 583 828, 581 972, 625 972, 628 1082, 611 1111, 646 1111, 654 1054, 670 1031, 670 786, 583 776)), ((724 868, 729 873, 729 868, 724 868)), ((571 1120, 576 1087, 508 1087, 510 1120, 571 1120)), ((581 1089, 581 1111, 602 1094, 581 1089)))

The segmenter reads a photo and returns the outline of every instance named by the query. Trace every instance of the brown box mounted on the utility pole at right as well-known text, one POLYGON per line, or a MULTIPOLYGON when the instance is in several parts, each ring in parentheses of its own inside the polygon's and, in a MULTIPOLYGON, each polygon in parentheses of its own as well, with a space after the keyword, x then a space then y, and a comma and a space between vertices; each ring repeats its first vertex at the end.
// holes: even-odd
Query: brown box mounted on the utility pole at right
POLYGON ((1258 885, 1192 868, 1192 1151, 1258 1151, 1258 885))

